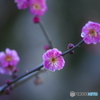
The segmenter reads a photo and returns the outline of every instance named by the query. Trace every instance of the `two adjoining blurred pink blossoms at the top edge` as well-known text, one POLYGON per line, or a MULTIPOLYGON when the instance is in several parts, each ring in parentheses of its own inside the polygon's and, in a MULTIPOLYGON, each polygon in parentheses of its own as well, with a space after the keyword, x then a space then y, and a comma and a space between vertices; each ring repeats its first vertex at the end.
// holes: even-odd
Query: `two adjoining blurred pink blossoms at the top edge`
POLYGON ((15 0, 18 9, 30 8, 30 12, 36 16, 42 16, 47 11, 46 0, 15 0))

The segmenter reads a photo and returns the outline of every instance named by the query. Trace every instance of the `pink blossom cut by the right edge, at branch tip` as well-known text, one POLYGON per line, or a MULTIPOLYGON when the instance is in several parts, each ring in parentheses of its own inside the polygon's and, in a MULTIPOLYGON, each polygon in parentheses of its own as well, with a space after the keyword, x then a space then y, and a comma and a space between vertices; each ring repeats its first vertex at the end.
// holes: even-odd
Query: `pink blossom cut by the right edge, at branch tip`
POLYGON ((89 21, 82 28, 81 37, 86 44, 96 44, 100 42, 100 24, 89 21))

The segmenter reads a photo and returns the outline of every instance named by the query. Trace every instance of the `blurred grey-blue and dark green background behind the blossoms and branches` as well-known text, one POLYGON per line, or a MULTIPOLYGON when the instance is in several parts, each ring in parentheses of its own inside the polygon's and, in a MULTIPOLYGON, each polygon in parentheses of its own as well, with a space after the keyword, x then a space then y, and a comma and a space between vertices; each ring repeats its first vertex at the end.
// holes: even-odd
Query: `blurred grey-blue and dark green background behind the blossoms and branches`
MULTIPOLYGON (((69 43, 78 43, 81 29, 88 21, 100 23, 100 0, 47 0, 48 11, 42 21, 55 47, 62 52, 69 43)), ((19 75, 39 65, 47 41, 38 24, 32 22, 29 9, 18 10, 14 0, 0 0, 0 51, 15 49, 21 58, 19 75)), ((33 83, 34 77, 15 88, 0 100, 100 100, 97 97, 70 97, 70 92, 100 93, 100 43, 83 44, 75 54, 66 55, 66 66, 56 72, 39 76, 42 85, 33 83)), ((8 75, 0 75, 0 85, 8 75)))

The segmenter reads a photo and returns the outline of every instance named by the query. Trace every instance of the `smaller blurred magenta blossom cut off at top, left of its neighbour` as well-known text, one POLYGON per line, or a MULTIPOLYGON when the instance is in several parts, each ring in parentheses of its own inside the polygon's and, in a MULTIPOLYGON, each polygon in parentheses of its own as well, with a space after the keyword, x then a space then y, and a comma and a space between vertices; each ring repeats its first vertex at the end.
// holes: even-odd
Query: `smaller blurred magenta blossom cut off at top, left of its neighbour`
POLYGON ((28 0, 14 0, 17 3, 18 9, 26 9, 29 6, 28 0))

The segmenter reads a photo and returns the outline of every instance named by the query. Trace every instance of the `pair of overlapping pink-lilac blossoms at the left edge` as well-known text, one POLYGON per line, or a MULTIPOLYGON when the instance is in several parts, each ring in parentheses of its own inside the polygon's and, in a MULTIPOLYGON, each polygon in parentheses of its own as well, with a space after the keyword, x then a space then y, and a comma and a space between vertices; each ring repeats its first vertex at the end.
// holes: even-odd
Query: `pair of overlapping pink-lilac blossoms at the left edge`
POLYGON ((12 75, 19 61, 20 58, 15 50, 7 48, 5 52, 0 52, 0 73, 12 75))

